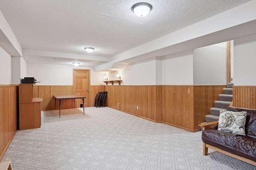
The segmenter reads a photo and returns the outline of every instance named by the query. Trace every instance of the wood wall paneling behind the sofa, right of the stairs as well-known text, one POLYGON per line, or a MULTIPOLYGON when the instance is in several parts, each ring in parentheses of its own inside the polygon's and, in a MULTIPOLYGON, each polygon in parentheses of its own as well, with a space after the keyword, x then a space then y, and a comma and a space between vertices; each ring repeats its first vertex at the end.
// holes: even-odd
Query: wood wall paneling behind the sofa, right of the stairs
POLYGON ((256 109, 256 86, 233 86, 233 107, 256 109))

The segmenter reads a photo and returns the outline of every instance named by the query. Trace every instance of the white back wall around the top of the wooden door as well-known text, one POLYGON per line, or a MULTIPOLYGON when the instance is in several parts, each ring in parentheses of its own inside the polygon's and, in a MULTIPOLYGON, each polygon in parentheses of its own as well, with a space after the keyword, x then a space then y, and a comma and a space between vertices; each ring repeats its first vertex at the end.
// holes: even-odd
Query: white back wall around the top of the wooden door
POLYGON ((27 76, 34 77, 37 85, 73 85, 73 69, 90 69, 91 85, 103 84, 104 75, 90 67, 57 64, 27 63, 27 76))

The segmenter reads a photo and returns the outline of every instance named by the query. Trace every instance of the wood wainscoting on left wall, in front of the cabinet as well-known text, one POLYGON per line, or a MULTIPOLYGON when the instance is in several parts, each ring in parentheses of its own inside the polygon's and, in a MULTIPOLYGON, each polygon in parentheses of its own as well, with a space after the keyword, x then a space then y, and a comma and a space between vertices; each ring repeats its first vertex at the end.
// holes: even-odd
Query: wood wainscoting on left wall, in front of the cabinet
POLYGON ((0 86, 0 160, 17 131, 18 86, 0 86))

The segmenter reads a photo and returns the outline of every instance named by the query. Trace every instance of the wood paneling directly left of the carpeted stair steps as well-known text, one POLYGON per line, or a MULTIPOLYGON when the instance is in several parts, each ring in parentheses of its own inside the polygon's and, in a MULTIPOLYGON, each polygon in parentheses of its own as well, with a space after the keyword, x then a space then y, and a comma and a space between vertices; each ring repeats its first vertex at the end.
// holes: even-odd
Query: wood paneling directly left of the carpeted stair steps
POLYGON ((205 116, 210 114, 210 108, 219 100, 219 94, 223 94, 222 86, 194 86, 194 129, 198 129, 200 123, 205 122, 205 116))

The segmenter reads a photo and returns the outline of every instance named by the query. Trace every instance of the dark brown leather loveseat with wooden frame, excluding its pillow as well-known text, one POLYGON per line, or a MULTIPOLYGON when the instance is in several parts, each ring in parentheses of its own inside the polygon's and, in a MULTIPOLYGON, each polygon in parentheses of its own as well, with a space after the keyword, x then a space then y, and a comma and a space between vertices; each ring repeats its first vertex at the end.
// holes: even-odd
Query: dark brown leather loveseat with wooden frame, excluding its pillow
POLYGON ((229 107, 227 111, 247 112, 245 135, 218 131, 218 121, 202 124, 203 155, 210 148, 256 166, 256 110, 229 107))

